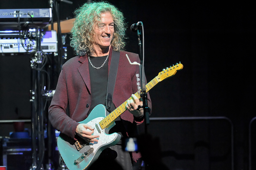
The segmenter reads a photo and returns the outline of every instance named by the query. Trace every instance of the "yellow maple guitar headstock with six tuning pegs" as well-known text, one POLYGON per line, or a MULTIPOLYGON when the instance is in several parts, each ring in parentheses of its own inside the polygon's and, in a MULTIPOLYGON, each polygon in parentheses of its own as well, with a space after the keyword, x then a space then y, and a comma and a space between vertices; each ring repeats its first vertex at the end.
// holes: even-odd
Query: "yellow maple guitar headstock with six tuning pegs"
POLYGON ((162 81, 166 78, 172 77, 178 70, 181 70, 183 68, 183 65, 181 63, 176 63, 174 66, 170 66, 169 68, 166 67, 166 69, 163 69, 158 75, 156 76, 158 81, 162 81))

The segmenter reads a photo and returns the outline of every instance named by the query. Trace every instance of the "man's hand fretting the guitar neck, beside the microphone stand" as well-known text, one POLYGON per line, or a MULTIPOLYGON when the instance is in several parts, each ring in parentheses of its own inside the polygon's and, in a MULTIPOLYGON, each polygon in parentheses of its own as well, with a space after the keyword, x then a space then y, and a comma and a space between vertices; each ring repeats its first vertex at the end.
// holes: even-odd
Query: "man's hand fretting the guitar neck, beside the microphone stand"
POLYGON ((131 100, 127 100, 127 104, 125 105, 126 109, 132 113, 135 117, 142 117, 143 116, 143 108, 141 107, 139 110, 137 108, 143 106, 142 101, 138 99, 134 94, 132 94, 131 100))

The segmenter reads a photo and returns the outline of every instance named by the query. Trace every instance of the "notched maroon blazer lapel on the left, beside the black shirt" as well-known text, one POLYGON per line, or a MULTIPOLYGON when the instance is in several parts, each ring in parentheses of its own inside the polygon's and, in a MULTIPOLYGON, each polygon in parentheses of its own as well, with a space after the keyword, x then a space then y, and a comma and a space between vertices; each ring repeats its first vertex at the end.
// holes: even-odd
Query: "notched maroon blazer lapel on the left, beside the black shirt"
POLYGON ((77 70, 79 71, 82 79, 84 80, 85 86, 87 87, 89 93, 91 94, 91 81, 90 81, 87 55, 80 58, 79 62, 81 63, 81 65, 77 67, 77 70))

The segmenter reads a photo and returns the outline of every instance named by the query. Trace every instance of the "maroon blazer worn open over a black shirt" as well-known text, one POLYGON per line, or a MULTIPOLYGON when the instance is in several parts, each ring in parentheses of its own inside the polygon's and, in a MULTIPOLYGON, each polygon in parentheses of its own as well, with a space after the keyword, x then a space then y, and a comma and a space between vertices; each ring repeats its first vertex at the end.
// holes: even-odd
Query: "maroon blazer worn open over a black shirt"
MULTIPOLYGON (((126 101, 132 94, 138 91, 137 77, 139 74, 138 65, 130 65, 125 54, 131 62, 140 63, 139 55, 121 51, 116 76, 116 84, 113 94, 113 104, 118 107, 126 101)), ((112 48, 109 51, 108 70, 110 66, 112 48)), ((63 66, 59 76, 56 91, 49 107, 49 120, 52 126, 71 138, 75 138, 76 126, 78 122, 87 118, 91 106, 91 83, 88 66, 88 56, 74 57, 69 59, 63 66), (69 107, 69 116, 66 110, 69 107)), ((151 100, 148 94, 148 107, 151 107, 151 100)), ((136 119, 129 111, 120 115, 126 129, 127 136, 135 135, 137 124, 144 120, 136 119)), ((136 161, 137 156, 133 155, 136 161)))

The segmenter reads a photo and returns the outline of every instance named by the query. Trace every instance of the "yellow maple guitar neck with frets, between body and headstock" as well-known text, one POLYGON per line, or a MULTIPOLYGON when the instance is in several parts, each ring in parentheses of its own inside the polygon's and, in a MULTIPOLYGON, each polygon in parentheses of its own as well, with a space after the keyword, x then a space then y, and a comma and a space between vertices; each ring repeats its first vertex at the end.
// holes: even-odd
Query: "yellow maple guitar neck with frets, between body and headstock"
MULTIPOLYGON (((152 89, 158 82, 159 81, 157 80, 156 77, 153 80, 151 80, 150 82, 148 82, 148 84, 145 85, 146 86, 146 93, 150 89, 152 89)), ((134 95, 137 96, 139 99, 141 98, 140 94, 138 92, 136 92, 134 95)), ((131 99, 132 99, 132 97, 130 97, 127 100, 131 100, 131 99)), ((100 128, 101 129, 104 129, 108 125, 112 124, 115 121, 115 119, 118 116, 120 116, 126 110, 125 105, 127 104, 127 100, 123 104, 121 104, 119 107, 117 107, 113 112, 109 113, 108 116, 106 116, 103 120, 100 121, 100 128)))

